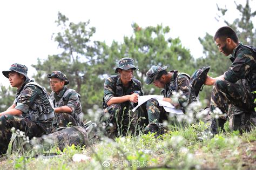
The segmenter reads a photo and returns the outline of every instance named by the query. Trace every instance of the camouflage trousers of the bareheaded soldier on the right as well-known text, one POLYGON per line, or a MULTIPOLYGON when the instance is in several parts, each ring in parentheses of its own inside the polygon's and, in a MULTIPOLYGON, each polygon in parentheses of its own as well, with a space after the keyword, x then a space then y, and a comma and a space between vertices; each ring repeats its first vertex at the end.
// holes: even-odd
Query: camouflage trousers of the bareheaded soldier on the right
POLYGON ((226 80, 216 81, 211 95, 210 113, 215 114, 214 111, 218 107, 226 115, 212 119, 211 130, 213 133, 218 133, 218 128, 223 130, 228 110, 232 105, 244 109, 246 112, 253 112, 255 104, 253 103, 253 95, 247 81, 239 80, 237 83, 230 83, 226 80))

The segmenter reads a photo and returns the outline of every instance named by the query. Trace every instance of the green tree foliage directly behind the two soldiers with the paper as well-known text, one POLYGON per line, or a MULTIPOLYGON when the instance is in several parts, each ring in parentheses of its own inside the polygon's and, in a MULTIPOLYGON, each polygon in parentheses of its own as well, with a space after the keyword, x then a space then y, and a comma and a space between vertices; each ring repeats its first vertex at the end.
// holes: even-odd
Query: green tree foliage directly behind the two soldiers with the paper
MULTIPOLYGON (((139 67, 135 77, 142 81, 145 94, 159 94, 160 92, 156 87, 145 86, 144 83, 146 72, 153 65, 167 65, 168 70, 193 73, 193 58, 190 51, 182 46, 179 38, 168 37, 169 26, 157 25, 141 28, 137 23, 133 23, 132 29, 133 35, 125 36, 123 43, 113 42, 108 53, 114 62, 123 57, 134 59, 139 67)), ((113 71, 106 73, 113 74, 113 71)))

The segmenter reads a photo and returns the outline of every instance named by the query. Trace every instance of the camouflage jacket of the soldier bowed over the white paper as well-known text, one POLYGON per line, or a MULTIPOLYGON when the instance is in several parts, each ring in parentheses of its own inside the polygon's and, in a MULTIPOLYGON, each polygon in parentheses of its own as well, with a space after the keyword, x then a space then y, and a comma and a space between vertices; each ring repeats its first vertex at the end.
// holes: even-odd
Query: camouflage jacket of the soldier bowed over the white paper
POLYGON ((178 97, 179 104, 183 106, 183 103, 187 102, 190 97, 190 76, 186 73, 178 73, 177 70, 171 70, 173 72, 170 83, 167 83, 161 94, 166 98, 171 98, 173 92, 182 92, 183 97, 178 97))

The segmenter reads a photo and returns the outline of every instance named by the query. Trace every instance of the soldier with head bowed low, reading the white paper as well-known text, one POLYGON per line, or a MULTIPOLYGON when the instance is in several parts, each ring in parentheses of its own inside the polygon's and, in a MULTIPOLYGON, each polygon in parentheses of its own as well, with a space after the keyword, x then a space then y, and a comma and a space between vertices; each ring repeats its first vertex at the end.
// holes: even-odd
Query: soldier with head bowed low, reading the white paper
MULTIPOLYGON (((188 104, 190 98, 190 76, 186 73, 179 73, 177 70, 166 71, 167 66, 152 66, 146 73, 146 84, 151 83, 158 88, 163 88, 161 94, 164 95, 164 101, 170 102, 176 108, 184 107, 188 104), (174 97, 173 92, 179 92, 180 96, 174 97)), ((193 98, 192 101, 197 101, 193 98)), ((156 99, 150 99, 146 103, 146 110, 149 116, 149 125, 146 130, 151 132, 160 132, 163 120, 168 120, 169 113, 159 106, 156 99)), ((183 110, 184 111, 184 110, 183 110)))

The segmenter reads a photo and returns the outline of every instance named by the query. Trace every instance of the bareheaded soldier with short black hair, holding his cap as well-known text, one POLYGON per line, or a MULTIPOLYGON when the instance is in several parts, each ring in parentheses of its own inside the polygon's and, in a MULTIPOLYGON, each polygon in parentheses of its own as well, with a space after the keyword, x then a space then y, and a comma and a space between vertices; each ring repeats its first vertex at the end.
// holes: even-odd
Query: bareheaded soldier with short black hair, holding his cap
MULTIPOLYGON (((228 114, 229 108, 233 108, 230 105, 244 109, 246 115, 254 111, 255 96, 252 92, 256 90, 256 50, 252 46, 240 43, 235 31, 228 26, 220 28, 215 33, 214 41, 220 52, 225 56, 231 55, 232 62, 232 66, 223 75, 216 78, 207 76, 205 82, 206 85, 213 85, 210 113, 217 113, 219 108, 224 114, 212 120, 211 131, 216 134, 219 129, 223 130, 227 120, 225 114, 228 114)), ((239 120, 239 124, 244 124, 243 121, 247 120, 239 120)), ((255 125, 255 121, 252 123, 255 125)))

